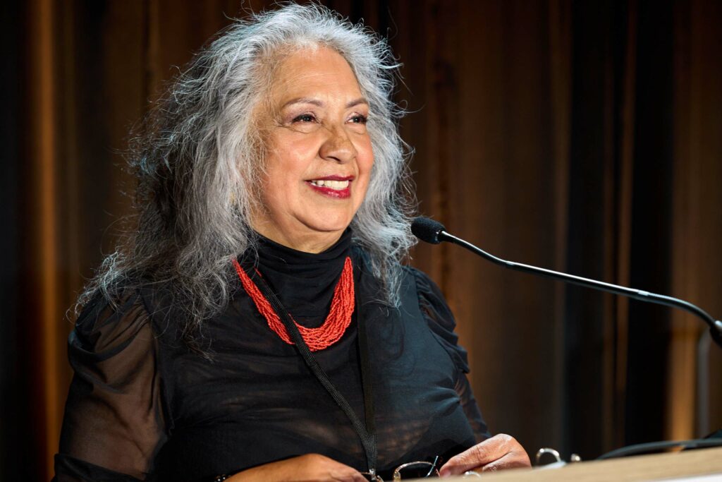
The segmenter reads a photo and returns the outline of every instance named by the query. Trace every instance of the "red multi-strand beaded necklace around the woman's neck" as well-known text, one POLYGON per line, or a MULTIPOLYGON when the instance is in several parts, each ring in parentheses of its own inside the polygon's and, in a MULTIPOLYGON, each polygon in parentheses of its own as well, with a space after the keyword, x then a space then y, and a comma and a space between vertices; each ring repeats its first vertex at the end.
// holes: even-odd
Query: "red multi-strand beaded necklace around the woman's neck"
MULTIPOLYGON (((271 304, 266 297, 258 289, 256 283, 251 281, 251 278, 245 273, 237 260, 233 260, 233 266, 240 282, 243 284, 245 292, 248 296, 251 296, 253 303, 256 304, 258 312, 264 315, 266 322, 269 324, 269 328, 273 330, 281 340, 293 345, 291 337, 288 335, 286 327, 283 326, 281 319, 279 318, 276 311, 274 311, 271 304)), ((260 273, 258 273, 260 275, 260 273)), ((354 312, 355 298, 354 298, 354 267, 351 262, 351 258, 347 257, 344 262, 344 270, 341 272, 339 283, 336 283, 334 288, 334 298, 331 299, 331 310, 326 320, 318 328, 306 328, 297 324, 298 331, 303 336, 303 340, 308 345, 309 350, 318 351, 323 348, 329 348, 337 341, 341 339, 346 332, 346 329, 351 324, 351 314, 354 312)), ((293 319, 293 317, 291 317, 293 319)))

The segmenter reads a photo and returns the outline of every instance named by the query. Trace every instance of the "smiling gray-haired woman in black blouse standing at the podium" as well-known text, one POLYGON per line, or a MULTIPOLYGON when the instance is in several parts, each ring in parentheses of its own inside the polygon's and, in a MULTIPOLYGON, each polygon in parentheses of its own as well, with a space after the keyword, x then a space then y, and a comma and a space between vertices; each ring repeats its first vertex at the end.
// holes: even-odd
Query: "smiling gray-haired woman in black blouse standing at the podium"
POLYGON ((489 438, 448 306, 399 262, 394 67, 362 27, 289 5, 170 87, 136 141, 134 239, 79 301, 58 481, 529 465, 489 438))

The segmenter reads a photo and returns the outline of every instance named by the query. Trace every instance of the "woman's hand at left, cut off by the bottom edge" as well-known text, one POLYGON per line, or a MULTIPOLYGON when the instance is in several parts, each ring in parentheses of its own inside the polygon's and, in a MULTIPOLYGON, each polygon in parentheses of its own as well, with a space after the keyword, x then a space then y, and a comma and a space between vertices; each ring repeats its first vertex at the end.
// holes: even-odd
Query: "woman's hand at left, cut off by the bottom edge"
POLYGON ((226 479, 227 482, 364 482, 355 468, 319 454, 300 455, 258 465, 226 479))

